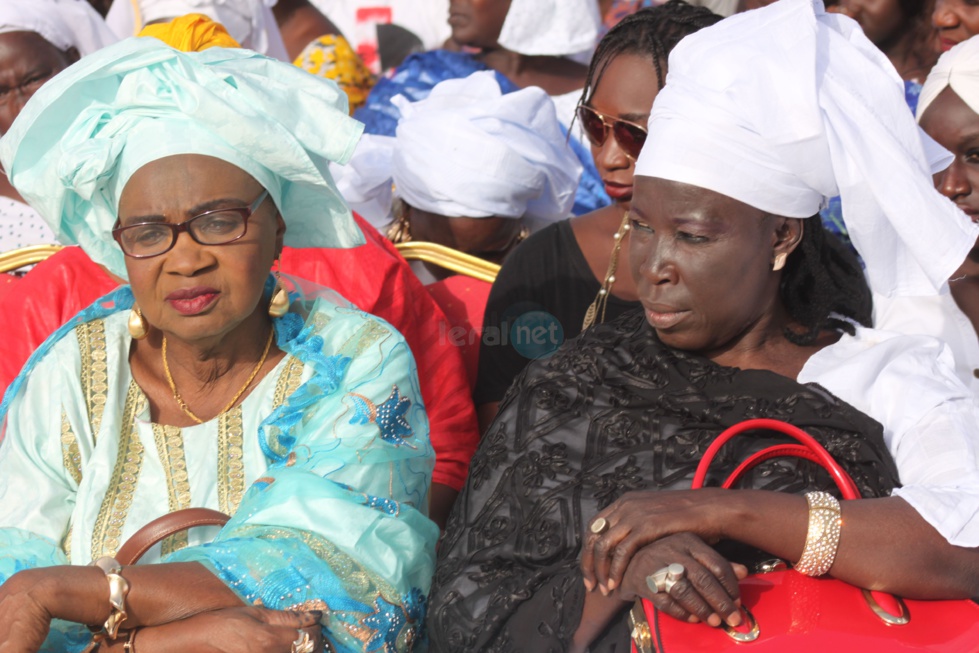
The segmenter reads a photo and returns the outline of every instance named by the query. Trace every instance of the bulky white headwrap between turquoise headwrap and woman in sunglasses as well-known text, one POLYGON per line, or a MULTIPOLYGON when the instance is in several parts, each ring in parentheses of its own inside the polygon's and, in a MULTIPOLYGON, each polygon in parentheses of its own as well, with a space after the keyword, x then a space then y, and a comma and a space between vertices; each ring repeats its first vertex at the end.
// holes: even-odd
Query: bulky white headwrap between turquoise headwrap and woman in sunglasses
POLYGON ((346 167, 332 168, 351 207, 375 226, 391 221, 394 195, 448 217, 570 214, 581 164, 543 90, 503 94, 483 71, 441 82, 424 100, 393 102, 396 136, 365 136, 346 167))

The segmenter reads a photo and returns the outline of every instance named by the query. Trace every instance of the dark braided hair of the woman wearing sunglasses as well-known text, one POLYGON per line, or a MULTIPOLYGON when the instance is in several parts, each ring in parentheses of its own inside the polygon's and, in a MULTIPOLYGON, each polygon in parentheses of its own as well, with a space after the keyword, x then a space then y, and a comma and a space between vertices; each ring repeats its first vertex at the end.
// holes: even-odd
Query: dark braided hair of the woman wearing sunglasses
POLYGON ((670 0, 664 5, 640 9, 626 16, 598 44, 588 66, 581 103, 591 98, 605 69, 613 59, 622 54, 650 57, 656 67, 657 85, 663 88, 666 84, 666 61, 670 51, 684 36, 719 20, 721 17, 710 10, 694 7, 683 0, 670 0))

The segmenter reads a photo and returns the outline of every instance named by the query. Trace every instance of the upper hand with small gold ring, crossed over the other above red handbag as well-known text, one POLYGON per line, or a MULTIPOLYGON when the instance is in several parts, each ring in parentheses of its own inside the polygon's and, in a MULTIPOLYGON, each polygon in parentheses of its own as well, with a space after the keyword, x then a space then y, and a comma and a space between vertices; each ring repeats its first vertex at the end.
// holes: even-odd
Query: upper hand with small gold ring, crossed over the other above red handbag
POLYGON ((667 535, 695 533, 711 543, 725 537, 724 520, 736 514, 725 501, 736 494, 705 488, 623 495, 590 522, 604 519, 607 527, 597 534, 589 528, 582 546, 585 586, 590 590, 598 585, 603 593, 614 590, 636 552, 667 535))

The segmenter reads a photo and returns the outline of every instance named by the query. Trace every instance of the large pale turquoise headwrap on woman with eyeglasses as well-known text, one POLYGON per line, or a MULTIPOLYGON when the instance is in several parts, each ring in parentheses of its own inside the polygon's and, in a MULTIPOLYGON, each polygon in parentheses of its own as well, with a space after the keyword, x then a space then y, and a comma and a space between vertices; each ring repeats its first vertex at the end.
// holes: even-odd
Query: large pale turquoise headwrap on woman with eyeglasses
POLYGON ((329 172, 362 131, 335 84, 290 64, 128 39, 38 90, 0 140, 0 161, 61 242, 125 277, 111 235, 119 196, 139 168, 176 154, 213 156, 253 176, 282 214, 290 247, 363 243, 329 172))

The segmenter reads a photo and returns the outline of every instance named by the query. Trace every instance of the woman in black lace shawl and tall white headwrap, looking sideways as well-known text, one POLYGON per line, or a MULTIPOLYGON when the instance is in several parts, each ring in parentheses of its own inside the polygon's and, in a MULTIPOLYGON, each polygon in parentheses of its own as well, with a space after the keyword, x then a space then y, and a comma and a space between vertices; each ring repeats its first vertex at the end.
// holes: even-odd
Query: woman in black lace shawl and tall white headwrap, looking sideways
MULTIPOLYGON (((920 291, 929 274, 942 279, 940 268, 964 257, 952 250, 967 221, 934 193, 921 148, 907 145, 918 132, 899 80, 849 29, 808 0, 783 0, 674 50, 630 216, 642 309, 586 331, 510 388, 439 551, 434 651, 627 651, 625 611, 637 597, 680 619, 735 625, 746 569, 712 546, 727 541, 803 573, 904 596, 979 594, 979 407, 942 343, 864 326, 859 266, 807 217, 836 190, 822 184, 823 172, 848 183, 844 217, 878 240, 904 230, 906 214, 936 216, 935 240, 904 238, 888 250, 902 270, 862 241, 878 291, 920 291), (779 34, 783 50, 765 52, 774 46, 762 32, 779 34), (825 62, 829 47, 838 58, 817 76, 823 69, 806 62, 825 62), (827 79, 836 85, 821 86, 827 79), (766 101, 788 98, 766 114, 770 123, 738 104, 750 100, 745 87, 764 90, 758 80, 779 88, 766 101), (858 85, 879 98, 874 118, 854 100, 858 85), (800 111, 807 88, 823 109, 800 111), (802 145, 787 146, 786 124, 811 127, 809 119, 821 135, 800 129, 802 145), (845 136, 839 121, 851 119, 879 154, 856 140, 844 143, 846 156, 837 141, 830 146, 827 134, 845 136), (895 143, 914 165, 894 160, 895 143), (671 156, 687 167, 671 166, 671 156), (875 185, 876 169, 892 174, 890 185, 875 185), (896 187, 914 192, 897 204, 881 194, 896 187), (861 211, 848 213, 854 206, 861 211), (710 442, 757 417, 816 437, 865 499, 840 508, 821 494, 831 487, 821 471, 786 461, 756 470, 751 489, 688 490, 710 442), (657 580, 671 564, 685 573, 657 580)), ((772 442, 736 440, 717 475, 772 442)))

